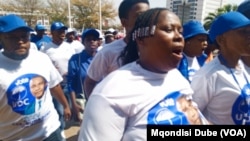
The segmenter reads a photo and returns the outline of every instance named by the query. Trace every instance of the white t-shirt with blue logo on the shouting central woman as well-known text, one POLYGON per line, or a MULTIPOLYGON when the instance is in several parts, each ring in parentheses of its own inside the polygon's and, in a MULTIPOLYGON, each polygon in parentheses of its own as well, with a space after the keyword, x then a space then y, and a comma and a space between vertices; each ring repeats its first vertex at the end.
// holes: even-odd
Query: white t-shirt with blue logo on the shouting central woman
POLYGON ((188 124, 177 99, 192 93, 177 69, 159 74, 129 63, 94 88, 78 141, 145 141, 147 124, 188 124))

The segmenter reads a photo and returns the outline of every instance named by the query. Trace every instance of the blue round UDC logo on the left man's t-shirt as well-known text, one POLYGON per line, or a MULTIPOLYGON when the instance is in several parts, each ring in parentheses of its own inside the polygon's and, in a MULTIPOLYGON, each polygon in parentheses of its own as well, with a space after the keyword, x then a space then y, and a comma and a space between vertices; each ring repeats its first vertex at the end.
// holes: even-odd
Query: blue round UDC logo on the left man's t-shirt
MULTIPOLYGON (((37 76, 38 75, 36 74, 25 74, 14 80, 8 87, 6 93, 8 104, 11 106, 14 112, 22 115, 35 113, 35 102, 37 98, 32 91, 33 86, 31 84, 33 83, 32 80, 37 76)), ((39 85, 39 83, 37 83, 36 85, 39 85)))

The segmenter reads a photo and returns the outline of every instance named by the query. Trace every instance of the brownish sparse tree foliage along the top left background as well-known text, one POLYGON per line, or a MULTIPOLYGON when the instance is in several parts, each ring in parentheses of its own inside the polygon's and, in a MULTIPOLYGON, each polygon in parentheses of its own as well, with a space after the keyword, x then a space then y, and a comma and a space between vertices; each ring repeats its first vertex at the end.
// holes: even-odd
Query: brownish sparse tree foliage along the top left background
MULTIPOLYGON (((2 11, 20 15, 31 27, 35 26, 39 16, 46 17, 50 23, 61 21, 69 26, 69 1, 73 27, 99 28, 99 0, 0 0, 0 7, 2 11)), ((112 0, 101 0, 102 21, 115 21, 116 11, 112 0)))

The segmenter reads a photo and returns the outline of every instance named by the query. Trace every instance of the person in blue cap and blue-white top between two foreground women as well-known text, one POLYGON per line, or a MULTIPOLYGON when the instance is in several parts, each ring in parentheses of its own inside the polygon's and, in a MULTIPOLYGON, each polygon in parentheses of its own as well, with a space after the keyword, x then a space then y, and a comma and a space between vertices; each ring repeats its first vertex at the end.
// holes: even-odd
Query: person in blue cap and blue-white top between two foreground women
POLYGON ((183 25, 185 46, 178 69, 189 82, 192 81, 195 72, 199 70, 205 62, 205 59, 199 62, 198 57, 205 55, 204 50, 208 46, 207 36, 207 31, 201 22, 197 20, 190 20, 183 25))

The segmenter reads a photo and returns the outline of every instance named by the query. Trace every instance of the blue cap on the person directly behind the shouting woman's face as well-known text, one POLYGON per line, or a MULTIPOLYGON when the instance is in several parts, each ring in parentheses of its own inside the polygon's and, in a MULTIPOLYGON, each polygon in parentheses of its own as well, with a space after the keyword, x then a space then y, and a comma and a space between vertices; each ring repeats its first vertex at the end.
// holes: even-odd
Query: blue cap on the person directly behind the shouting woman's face
POLYGON ((201 22, 197 20, 190 20, 189 22, 185 23, 183 25, 183 37, 184 39, 191 38, 193 36, 199 35, 199 34, 206 34, 208 35, 208 32, 205 30, 201 22))

